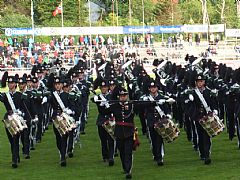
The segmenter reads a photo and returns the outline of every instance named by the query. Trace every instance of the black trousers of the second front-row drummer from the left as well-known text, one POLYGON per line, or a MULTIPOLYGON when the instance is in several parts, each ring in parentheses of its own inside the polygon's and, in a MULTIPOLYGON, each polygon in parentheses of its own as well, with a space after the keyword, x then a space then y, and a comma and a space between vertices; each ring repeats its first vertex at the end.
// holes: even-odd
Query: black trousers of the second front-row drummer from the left
POLYGON ((64 161, 66 160, 68 135, 61 136, 54 125, 53 125, 53 130, 56 136, 57 148, 60 152, 60 160, 64 161))

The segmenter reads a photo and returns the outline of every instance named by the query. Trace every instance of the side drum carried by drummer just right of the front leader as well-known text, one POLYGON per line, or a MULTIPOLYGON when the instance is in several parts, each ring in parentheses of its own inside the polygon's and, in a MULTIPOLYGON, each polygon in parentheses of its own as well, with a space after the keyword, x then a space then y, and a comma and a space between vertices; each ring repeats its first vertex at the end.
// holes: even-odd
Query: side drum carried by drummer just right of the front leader
POLYGON ((154 124, 155 131, 162 136, 163 140, 167 143, 174 141, 180 133, 177 125, 171 119, 166 117, 160 119, 154 124))

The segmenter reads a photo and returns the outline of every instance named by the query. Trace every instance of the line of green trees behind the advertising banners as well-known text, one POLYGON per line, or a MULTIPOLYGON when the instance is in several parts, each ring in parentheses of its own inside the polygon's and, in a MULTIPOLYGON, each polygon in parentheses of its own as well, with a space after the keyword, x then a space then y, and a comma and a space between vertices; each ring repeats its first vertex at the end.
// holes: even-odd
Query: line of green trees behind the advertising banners
MULTIPOLYGON (((52 13, 60 0, 32 0, 36 27, 61 26, 61 15, 52 13)), ((100 5, 99 18, 92 26, 225 23, 239 28, 234 0, 91 0, 100 5), (206 3, 206 10, 203 5, 206 3), (144 17, 143 17, 144 13, 144 17)), ((64 26, 89 26, 88 0, 63 0, 64 26)), ((0 28, 31 27, 31 0, 0 0, 0 28)))

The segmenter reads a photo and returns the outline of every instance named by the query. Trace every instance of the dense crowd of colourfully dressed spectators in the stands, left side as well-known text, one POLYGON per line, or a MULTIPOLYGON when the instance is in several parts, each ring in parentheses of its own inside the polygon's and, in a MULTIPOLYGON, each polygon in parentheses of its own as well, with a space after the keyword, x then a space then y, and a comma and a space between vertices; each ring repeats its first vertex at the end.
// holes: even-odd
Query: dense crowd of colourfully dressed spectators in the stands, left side
POLYGON ((34 42, 31 36, 6 37, 0 38, 0 67, 30 68, 38 63, 49 63, 56 58, 61 58, 68 64, 76 64, 79 58, 86 54, 94 55, 101 51, 107 57, 107 53, 112 53, 111 51, 127 52, 129 49, 135 51, 136 48, 152 45, 151 34, 146 34, 145 37, 143 35, 52 37, 48 43, 34 42))

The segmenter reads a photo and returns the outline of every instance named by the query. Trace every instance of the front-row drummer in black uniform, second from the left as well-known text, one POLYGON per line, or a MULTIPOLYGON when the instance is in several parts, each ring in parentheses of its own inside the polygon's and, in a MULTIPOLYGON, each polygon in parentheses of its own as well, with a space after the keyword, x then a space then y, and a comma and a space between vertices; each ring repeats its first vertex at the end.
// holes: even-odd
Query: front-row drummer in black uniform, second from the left
MULTIPOLYGON (((55 119, 57 116, 61 115, 63 112, 74 115, 74 104, 72 101, 69 100, 69 94, 67 92, 62 91, 63 81, 59 77, 54 78, 54 89, 55 91, 52 95, 48 98, 49 103, 53 108, 52 119, 55 119), (59 101, 62 101, 64 107, 61 107, 59 104, 57 97, 60 97, 59 101)), ((44 102, 47 99, 43 100, 44 102)), ((66 153, 67 153, 67 141, 68 141, 68 134, 60 135, 58 129, 53 125, 53 130, 56 135, 56 142, 57 148, 60 152, 60 165, 66 166, 66 153)))

